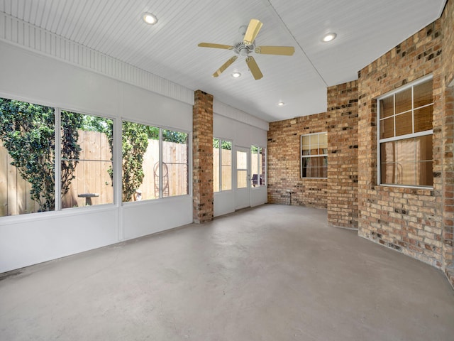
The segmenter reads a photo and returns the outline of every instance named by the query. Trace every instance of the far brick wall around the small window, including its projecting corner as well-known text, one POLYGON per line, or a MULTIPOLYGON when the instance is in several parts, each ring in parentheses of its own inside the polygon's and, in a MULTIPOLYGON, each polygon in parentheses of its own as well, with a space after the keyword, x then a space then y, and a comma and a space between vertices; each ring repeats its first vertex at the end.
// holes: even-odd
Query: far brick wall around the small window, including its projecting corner
POLYGON ((358 82, 328 88, 328 110, 270 123, 268 202, 328 209, 328 224, 358 227, 358 82), (328 178, 301 178, 300 136, 328 132, 328 178))

